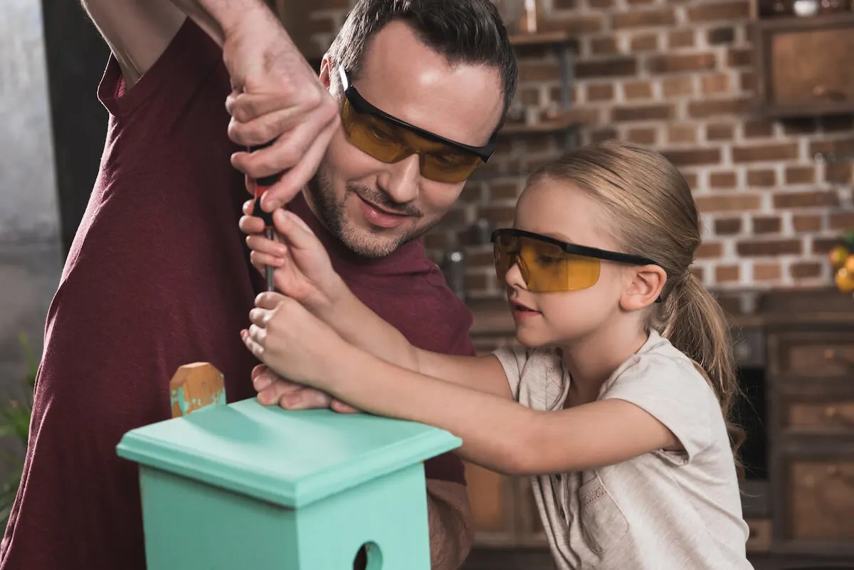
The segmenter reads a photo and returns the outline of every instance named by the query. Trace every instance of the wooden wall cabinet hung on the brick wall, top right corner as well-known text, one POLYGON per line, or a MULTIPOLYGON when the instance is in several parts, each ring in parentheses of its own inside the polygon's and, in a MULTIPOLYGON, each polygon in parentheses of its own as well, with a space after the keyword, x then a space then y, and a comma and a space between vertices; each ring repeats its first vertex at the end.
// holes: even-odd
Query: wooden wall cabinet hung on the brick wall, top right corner
POLYGON ((762 113, 854 112, 854 14, 757 20, 752 32, 762 113))

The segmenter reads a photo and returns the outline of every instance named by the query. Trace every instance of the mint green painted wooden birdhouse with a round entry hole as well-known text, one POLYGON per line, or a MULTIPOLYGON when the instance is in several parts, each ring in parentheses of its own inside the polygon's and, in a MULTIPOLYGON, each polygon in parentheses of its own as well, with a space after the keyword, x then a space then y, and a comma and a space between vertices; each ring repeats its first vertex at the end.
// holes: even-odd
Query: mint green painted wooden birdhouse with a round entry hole
POLYGON ((423 462, 460 443, 252 398, 134 429, 117 451, 139 464, 149 570, 350 570, 363 547, 367 570, 430 570, 423 462))

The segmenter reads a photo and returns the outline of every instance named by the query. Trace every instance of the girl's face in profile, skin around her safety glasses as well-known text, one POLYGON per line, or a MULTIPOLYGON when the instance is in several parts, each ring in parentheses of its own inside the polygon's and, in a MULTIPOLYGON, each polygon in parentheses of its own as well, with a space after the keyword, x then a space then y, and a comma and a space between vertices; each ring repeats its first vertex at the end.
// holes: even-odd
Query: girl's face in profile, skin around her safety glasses
MULTIPOLYGON (((587 193, 569 181, 542 180, 520 196, 513 227, 559 241, 622 252, 611 236, 611 220, 587 193)), ((507 299, 524 346, 549 346, 605 333, 620 317, 620 298, 630 265, 600 262, 598 281, 589 288, 560 293, 528 290, 518 265, 507 272, 507 299)))

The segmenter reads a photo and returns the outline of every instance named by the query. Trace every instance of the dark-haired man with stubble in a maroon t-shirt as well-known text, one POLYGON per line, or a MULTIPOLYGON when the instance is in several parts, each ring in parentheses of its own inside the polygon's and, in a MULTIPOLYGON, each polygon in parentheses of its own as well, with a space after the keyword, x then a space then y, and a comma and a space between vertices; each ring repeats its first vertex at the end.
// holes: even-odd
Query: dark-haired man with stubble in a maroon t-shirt
MULTIPOLYGON (((239 330, 258 288, 237 229, 245 193, 232 165, 250 177, 287 171, 265 195, 272 210, 321 163, 307 200, 290 207, 329 230, 351 288, 425 348, 471 352, 469 321, 451 317, 459 301, 415 238, 462 188, 462 179, 436 181, 447 180, 436 166, 459 157, 460 143, 488 147, 515 89, 488 0, 360 2, 322 82, 260 0, 85 7, 113 52, 98 91, 107 144, 50 306, 0 570, 142 570, 137 473, 115 455, 121 435, 170 415, 168 381, 181 364, 211 362, 229 400, 253 397, 256 361, 239 330), (326 92, 339 80, 354 84, 348 101, 372 105, 351 103, 360 120, 344 118, 348 133, 338 128, 348 106, 326 92), (405 121, 407 145, 423 148, 383 161, 357 147, 354 125, 380 135, 370 109, 388 113, 376 125, 405 121), (415 137, 417 127, 447 142, 415 137)), ((471 542, 461 467, 443 456, 425 469, 434 567, 458 567, 471 542)))

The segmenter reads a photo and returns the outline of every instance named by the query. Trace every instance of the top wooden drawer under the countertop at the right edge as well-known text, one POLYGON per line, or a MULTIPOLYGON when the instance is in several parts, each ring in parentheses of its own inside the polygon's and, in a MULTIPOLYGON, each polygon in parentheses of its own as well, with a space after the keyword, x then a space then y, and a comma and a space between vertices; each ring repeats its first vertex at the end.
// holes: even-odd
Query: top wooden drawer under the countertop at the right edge
POLYGON ((769 337, 771 371, 806 378, 854 378, 854 334, 821 332, 769 337))

